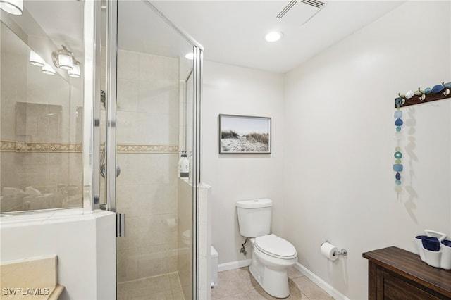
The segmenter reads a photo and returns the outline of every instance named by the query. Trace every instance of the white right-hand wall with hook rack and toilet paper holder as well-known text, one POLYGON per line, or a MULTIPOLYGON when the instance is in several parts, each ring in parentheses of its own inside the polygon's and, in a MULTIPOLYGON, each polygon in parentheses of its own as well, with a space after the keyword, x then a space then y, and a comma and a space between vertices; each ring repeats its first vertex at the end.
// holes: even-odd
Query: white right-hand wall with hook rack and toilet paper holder
POLYGON ((450 1, 409 1, 286 75, 275 218, 299 263, 350 299, 367 296, 362 252, 416 252, 424 229, 451 234, 450 100, 402 109, 402 193, 393 188, 394 99, 451 80, 450 11, 450 1), (349 256, 327 261, 326 239, 349 256))

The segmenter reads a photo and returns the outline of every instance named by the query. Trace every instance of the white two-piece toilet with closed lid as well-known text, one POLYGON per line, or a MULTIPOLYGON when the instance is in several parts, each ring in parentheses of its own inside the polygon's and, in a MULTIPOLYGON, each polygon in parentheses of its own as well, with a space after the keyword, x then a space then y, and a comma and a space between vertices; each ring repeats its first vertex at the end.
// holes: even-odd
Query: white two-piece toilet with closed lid
POLYGON ((271 233, 271 199, 237 201, 240 234, 252 244, 249 271, 271 296, 290 296, 287 270, 297 262, 295 246, 271 233))

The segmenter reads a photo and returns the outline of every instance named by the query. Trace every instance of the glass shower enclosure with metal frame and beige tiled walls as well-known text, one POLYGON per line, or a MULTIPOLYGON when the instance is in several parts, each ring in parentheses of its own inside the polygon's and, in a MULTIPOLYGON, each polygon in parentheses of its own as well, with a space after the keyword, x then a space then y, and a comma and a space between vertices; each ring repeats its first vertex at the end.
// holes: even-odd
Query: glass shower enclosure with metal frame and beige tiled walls
POLYGON ((1 215, 117 212, 117 299, 197 299, 202 46, 157 6, 25 1, 23 15, 1 13, 1 215), (78 14, 79 35, 50 11, 78 14), (54 65, 62 40, 80 77, 54 65))

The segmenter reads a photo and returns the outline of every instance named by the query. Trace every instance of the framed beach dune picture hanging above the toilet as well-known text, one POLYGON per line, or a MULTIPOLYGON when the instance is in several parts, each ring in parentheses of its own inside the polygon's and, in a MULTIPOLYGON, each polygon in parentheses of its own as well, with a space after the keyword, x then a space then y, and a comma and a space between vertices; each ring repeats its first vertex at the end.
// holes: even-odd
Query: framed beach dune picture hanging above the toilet
POLYGON ((219 115, 219 154, 270 154, 271 118, 219 115))

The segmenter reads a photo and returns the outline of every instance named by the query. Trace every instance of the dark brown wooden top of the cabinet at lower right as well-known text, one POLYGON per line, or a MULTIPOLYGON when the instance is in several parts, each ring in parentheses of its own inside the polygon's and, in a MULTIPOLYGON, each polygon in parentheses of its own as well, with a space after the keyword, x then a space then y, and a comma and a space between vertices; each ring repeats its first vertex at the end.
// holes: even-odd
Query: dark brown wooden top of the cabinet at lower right
POLYGON ((431 267, 421 261, 419 255, 395 246, 365 252, 362 256, 368 259, 369 263, 403 277, 412 284, 451 298, 451 270, 431 267))

